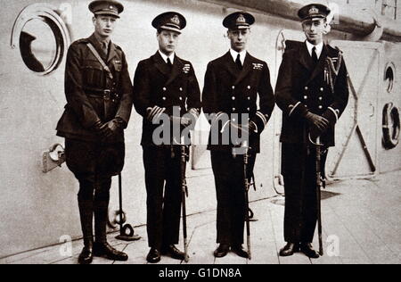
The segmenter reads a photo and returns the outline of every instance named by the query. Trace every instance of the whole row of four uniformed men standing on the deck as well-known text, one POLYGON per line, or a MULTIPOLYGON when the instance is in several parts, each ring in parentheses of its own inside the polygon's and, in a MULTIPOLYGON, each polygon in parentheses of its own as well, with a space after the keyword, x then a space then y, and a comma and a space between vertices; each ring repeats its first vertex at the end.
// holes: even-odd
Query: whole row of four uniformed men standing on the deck
MULTIPOLYGON (((89 9, 94 12, 94 34, 70 46, 65 73, 68 104, 57 126, 58 136, 65 137, 67 165, 80 186, 78 206, 85 247, 78 262, 91 263, 94 255, 127 261, 127 254, 107 243, 106 222, 111 177, 124 166, 124 129, 133 104, 143 116, 141 144, 151 248, 147 261, 159 262, 160 254, 184 260, 184 253, 176 248, 182 199, 180 153, 182 145, 190 142, 184 132, 194 128, 202 107, 192 63, 175 53, 186 20, 178 12, 165 12, 152 21, 159 50, 139 62, 132 87, 125 54, 110 41, 123 5, 96 0, 89 9)), ((311 258, 319 256, 311 245, 317 206, 316 151, 311 141, 321 137, 325 149, 333 146, 335 124, 348 104, 347 70, 340 50, 323 43, 329 13, 329 8, 320 4, 299 11, 307 41, 289 45, 276 87, 277 104, 283 112, 284 236, 288 243, 282 256, 299 249, 311 258)), ((225 18, 231 48, 209 62, 203 89, 217 190, 219 246, 214 254, 218 258, 230 250, 249 257, 242 247, 248 210, 244 161, 239 156, 243 149, 250 154, 250 178, 260 152, 260 134, 274 110, 267 63, 247 52, 254 22, 248 12, 234 12, 225 18)), ((323 161, 326 156, 327 150, 323 161)))

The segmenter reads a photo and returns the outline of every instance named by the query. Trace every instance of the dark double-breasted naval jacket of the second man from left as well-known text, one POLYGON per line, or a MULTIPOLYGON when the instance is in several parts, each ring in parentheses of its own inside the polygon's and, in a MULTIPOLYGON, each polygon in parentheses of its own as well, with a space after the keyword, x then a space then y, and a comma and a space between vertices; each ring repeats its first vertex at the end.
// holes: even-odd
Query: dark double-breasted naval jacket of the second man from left
POLYGON ((192 63, 175 56, 170 71, 159 51, 139 62, 134 79, 134 105, 143 116, 143 146, 155 145, 153 132, 160 126, 146 119, 149 108, 165 108, 169 116, 177 108, 180 117, 192 113, 197 119, 201 112, 201 90, 192 63))

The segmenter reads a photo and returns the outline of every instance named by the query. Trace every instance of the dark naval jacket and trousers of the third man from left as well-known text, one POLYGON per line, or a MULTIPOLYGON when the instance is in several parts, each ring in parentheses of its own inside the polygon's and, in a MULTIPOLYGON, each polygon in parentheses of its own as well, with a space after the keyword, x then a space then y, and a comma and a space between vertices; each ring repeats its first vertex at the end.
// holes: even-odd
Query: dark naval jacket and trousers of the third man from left
POLYGON ((241 124, 241 114, 248 114, 258 130, 250 134, 248 175, 252 175, 256 155, 260 152, 260 134, 274 110, 274 93, 267 63, 246 54, 241 70, 230 52, 209 62, 202 103, 204 112, 214 117, 214 120, 209 120, 212 125, 209 150, 217 189, 217 243, 241 245, 245 217, 243 158, 233 158, 234 140, 225 144, 221 135, 216 140, 212 136, 214 130, 221 133, 224 127, 223 123, 215 122, 219 117, 227 114, 231 121, 241 124))

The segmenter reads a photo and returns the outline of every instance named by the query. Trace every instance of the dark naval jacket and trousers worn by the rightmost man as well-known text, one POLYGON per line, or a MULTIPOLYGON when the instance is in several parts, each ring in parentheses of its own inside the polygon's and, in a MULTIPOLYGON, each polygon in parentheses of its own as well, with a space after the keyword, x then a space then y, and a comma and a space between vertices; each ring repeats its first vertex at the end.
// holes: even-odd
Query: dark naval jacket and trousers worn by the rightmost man
MULTIPOLYGON (((275 90, 282 109, 284 237, 289 243, 312 243, 317 220, 316 153, 309 141, 314 130, 305 116, 312 112, 329 120, 330 127, 321 135, 321 142, 326 149, 334 146, 335 124, 348 104, 348 72, 340 51, 331 46, 323 46, 316 65, 306 43, 288 42, 288 46, 275 90)), ((322 170, 327 150, 323 152, 322 170)))

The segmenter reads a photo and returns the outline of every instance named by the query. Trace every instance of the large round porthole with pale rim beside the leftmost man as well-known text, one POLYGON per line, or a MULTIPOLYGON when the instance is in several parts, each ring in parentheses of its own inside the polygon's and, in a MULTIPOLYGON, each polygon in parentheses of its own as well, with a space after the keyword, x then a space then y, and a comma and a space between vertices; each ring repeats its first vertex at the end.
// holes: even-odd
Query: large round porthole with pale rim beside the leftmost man
POLYGON ((52 5, 32 4, 20 12, 12 29, 12 48, 29 71, 47 75, 57 70, 68 46, 70 31, 52 5))

